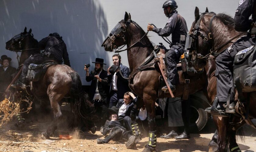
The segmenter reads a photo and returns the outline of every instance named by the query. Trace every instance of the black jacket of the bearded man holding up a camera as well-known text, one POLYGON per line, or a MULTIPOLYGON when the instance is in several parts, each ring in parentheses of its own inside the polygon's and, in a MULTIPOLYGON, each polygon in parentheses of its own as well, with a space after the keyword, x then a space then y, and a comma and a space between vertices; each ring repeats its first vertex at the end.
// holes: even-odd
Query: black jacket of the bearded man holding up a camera
POLYGON ((92 81, 89 92, 90 100, 93 99, 96 90, 96 85, 98 85, 98 90, 101 95, 101 98, 105 103, 107 103, 107 97, 109 93, 109 83, 107 79, 108 72, 102 69, 101 74, 99 75, 99 77, 101 78, 101 82, 98 81, 98 83, 98 79, 94 77, 95 75, 97 75, 97 72, 91 71, 90 75, 86 77, 87 82, 92 81))

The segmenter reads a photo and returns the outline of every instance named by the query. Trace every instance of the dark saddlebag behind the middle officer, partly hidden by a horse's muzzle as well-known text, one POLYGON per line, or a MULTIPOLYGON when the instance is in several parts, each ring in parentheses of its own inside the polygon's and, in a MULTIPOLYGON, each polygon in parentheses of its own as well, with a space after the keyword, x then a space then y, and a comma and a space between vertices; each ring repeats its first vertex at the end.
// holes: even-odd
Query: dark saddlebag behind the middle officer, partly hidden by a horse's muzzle
POLYGON ((197 71, 194 67, 188 67, 188 52, 184 52, 184 54, 181 55, 181 68, 183 73, 186 72, 190 76, 194 76, 204 72, 203 68, 197 71))

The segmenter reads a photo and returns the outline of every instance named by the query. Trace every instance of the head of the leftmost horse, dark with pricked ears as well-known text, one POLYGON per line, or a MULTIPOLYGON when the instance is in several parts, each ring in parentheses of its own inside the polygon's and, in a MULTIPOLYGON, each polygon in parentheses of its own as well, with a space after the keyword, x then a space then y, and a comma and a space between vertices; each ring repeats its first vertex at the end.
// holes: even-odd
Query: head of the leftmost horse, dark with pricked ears
MULTIPOLYGON (((25 27, 24 32, 17 34, 12 37, 11 40, 6 42, 6 49, 11 51, 19 51, 26 49, 27 40, 33 38, 33 34, 31 33, 32 29, 27 32, 27 27, 25 27)), ((34 39, 34 38, 33 38, 34 39)))

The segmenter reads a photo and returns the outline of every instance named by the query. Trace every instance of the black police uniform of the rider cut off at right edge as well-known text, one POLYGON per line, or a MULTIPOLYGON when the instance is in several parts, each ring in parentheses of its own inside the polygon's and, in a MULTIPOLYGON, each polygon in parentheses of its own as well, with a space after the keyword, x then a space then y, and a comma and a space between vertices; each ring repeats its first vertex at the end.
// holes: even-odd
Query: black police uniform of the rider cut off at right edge
MULTIPOLYGON (((252 33, 252 24, 256 21, 256 0, 240 0, 239 6, 234 17, 236 31, 246 32, 250 29, 247 36, 241 37, 222 54, 220 54, 216 62, 215 76, 217 77, 217 96, 219 102, 226 102, 229 89, 233 86, 233 61, 237 52, 244 50, 252 45, 256 45, 255 33, 252 33), (249 17, 252 15, 252 19, 249 17)), ((230 102, 233 102, 233 89, 230 95, 230 102)))

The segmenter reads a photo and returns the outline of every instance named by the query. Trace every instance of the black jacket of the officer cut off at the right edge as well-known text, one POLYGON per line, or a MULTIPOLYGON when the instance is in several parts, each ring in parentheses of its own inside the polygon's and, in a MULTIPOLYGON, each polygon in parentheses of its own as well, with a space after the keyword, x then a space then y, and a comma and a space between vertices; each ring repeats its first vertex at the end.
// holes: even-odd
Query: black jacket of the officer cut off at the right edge
POLYGON ((246 32, 250 29, 252 22, 256 22, 255 1, 256 0, 240 0, 234 17, 236 31, 246 32), (252 19, 249 19, 251 15, 252 19))

